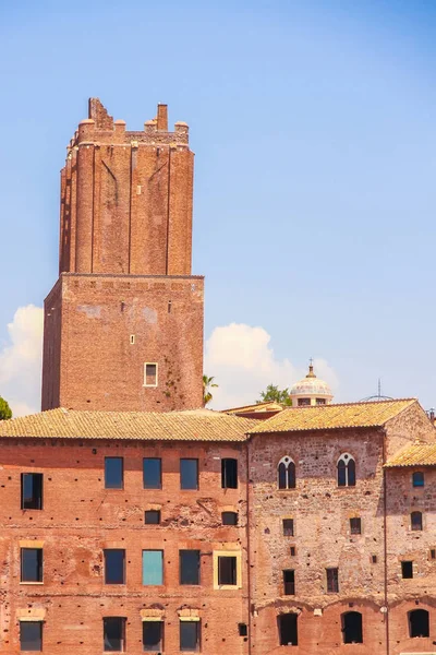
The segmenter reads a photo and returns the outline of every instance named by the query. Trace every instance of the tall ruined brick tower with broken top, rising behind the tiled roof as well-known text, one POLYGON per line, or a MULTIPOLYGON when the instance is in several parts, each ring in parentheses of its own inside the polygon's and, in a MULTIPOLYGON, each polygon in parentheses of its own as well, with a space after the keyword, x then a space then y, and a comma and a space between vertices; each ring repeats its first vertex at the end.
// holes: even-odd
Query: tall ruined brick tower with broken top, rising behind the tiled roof
POLYGON ((59 279, 45 301, 43 409, 167 412, 203 401, 194 155, 167 106, 128 132, 89 100, 61 171, 59 279))

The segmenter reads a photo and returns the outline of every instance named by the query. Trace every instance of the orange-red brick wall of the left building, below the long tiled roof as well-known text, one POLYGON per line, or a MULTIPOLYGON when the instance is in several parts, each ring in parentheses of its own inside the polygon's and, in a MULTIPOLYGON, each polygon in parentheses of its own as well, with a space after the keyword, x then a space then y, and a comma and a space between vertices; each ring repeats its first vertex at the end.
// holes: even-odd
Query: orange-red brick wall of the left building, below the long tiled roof
POLYGON ((102 617, 126 617, 126 652, 143 653, 141 610, 158 607, 165 653, 179 652, 179 611, 202 621, 202 653, 247 653, 238 623, 246 602, 246 487, 243 445, 68 440, 0 443, 0 653, 19 653, 20 610, 46 611, 44 653, 102 652, 102 617), (124 457, 124 489, 104 488, 105 456, 124 457), (162 457, 162 489, 143 489, 144 456, 162 457), (238 489, 221 489, 222 456, 239 460, 238 489), (199 489, 181 491, 179 458, 199 460, 199 489), (44 510, 21 510, 21 473, 44 473, 44 510), (144 511, 161 508, 161 525, 144 511), (239 512, 222 526, 221 511, 239 512), (20 583, 20 541, 44 543, 44 584, 20 583), (126 585, 104 584, 104 548, 125 548, 126 585), (142 550, 165 551, 165 586, 142 585, 142 550), (179 585, 179 549, 201 550, 201 586, 179 585), (242 552, 242 588, 214 590, 214 550, 242 552))

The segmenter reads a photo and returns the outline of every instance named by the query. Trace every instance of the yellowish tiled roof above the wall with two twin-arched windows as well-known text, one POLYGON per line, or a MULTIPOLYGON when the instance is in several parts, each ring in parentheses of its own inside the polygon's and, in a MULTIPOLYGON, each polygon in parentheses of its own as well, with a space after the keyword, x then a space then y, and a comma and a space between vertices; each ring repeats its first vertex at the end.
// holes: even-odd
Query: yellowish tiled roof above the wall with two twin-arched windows
POLYGON ((315 405, 291 407, 268 418, 250 430, 251 434, 263 432, 296 432, 302 430, 335 430, 339 428, 382 427, 407 407, 417 403, 415 398, 378 401, 373 403, 347 403, 342 405, 315 405))

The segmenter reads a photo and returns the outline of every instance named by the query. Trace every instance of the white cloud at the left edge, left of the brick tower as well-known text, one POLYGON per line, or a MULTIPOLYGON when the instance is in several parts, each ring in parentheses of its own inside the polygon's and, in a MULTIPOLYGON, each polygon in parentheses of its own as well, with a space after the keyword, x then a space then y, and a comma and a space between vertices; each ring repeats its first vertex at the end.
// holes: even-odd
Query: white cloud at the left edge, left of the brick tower
POLYGON ((8 325, 9 342, 0 347, 0 395, 14 416, 40 409, 44 312, 19 307, 8 325))

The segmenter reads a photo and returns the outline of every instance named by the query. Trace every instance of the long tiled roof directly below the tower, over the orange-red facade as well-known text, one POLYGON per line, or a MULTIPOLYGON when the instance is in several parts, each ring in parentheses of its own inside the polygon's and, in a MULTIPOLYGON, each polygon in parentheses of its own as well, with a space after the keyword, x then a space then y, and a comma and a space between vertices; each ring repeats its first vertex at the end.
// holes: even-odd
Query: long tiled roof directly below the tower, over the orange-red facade
POLYGON ((205 409, 80 412, 49 409, 0 421, 1 437, 141 439, 162 441, 245 441, 256 420, 205 409))

